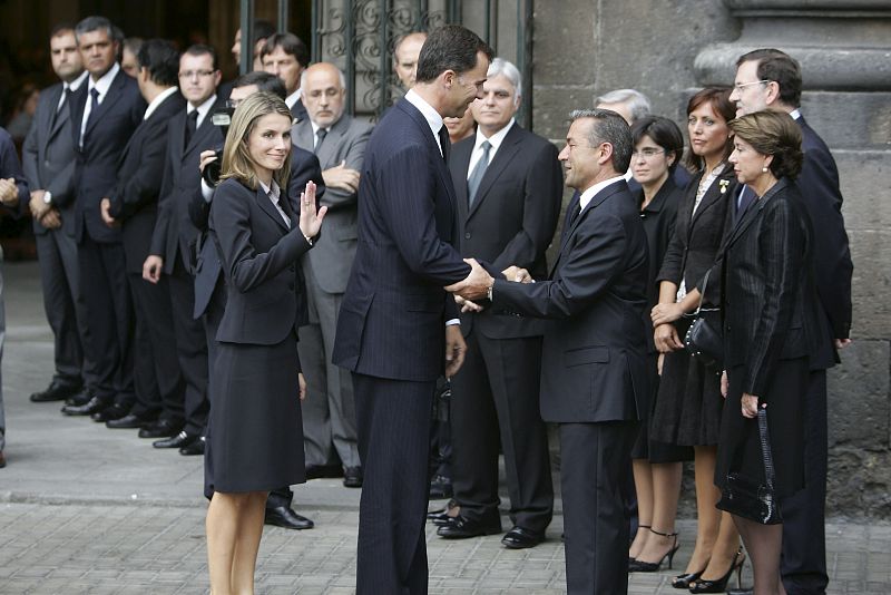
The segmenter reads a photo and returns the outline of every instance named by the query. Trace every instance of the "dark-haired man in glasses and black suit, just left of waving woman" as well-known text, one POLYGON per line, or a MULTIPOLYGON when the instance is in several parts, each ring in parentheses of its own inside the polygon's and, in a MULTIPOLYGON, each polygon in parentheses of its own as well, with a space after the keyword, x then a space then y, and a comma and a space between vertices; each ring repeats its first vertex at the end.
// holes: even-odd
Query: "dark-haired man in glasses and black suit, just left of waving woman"
MULTIPOLYGON (((177 448, 180 455, 204 453, 207 425, 207 343, 195 310, 195 254, 198 228, 192 223, 189 203, 200 188, 199 155, 223 144, 210 114, 219 107, 216 88, 221 72, 216 51, 209 46, 189 47, 179 58, 179 90, 185 109, 167 128, 167 162, 160 188, 158 218, 151 236, 143 277, 156 283, 167 275, 173 303, 176 351, 186 382, 185 397, 170 402, 158 425, 144 428, 140 436, 161 438, 155 448, 177 448)), ((172 345, 173 347, 173 345, 172 345)))

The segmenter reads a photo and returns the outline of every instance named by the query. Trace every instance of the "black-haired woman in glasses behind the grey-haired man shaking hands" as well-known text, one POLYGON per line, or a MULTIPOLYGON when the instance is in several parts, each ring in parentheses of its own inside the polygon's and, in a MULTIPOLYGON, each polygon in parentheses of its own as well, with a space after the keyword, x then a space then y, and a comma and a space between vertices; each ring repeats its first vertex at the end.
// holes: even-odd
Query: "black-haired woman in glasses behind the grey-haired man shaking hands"
MULTIPOLYGON (((684 193, 675 186, 674 172, 684 155, 684 136, 668 118, 647 116, 631 126, 631 173, 640 189, 634 193, 649 246, 648 304, 650 384, 658 387, 658 355, 653 342, 649 309, 659 299, 656 275, 668 247, 677 220, 677 205, 684 193)), ((681 461, 693 458, 689 447, 649 440, 648 420, 631 450, 634 484, 637 491, 637 535, 628 550, 630 572, 656 572, 666 553, 676 549, 675 515, 681 491, 681 461)), ((668 556, 670 562, 672 555, 668 556)))

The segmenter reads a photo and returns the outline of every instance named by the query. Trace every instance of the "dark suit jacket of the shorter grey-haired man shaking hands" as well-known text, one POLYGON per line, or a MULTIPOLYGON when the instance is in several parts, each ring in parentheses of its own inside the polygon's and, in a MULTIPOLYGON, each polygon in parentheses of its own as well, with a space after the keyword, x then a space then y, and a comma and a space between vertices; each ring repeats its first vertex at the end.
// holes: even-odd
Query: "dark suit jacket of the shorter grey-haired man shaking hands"
POLYGON ((640 215, 619 181, 564 227, 548 281, 496 280, 495 306, 554 319, 541 349, 545 421, 636 420, 648 408, 647 272, 640 215))

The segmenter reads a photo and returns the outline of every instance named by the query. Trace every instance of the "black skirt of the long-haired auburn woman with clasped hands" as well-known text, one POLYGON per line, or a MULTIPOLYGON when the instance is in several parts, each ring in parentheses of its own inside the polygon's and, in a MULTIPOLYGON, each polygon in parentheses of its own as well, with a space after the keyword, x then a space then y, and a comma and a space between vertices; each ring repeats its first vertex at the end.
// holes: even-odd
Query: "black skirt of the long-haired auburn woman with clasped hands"
MULTIPOLYGON (((682 341, 692 323, 688 318, 674 323, 682 341)), ((685 349, 666 353, 650 417, 650 440, 717 445, 723 407, 718 365, 705 365, 685 349)))

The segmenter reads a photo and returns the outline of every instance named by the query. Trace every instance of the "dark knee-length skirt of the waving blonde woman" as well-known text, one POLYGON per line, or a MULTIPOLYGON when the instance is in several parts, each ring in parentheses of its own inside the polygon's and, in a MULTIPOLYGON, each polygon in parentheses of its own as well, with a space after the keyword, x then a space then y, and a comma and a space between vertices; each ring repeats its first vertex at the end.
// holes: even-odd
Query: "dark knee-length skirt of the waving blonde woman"
POLYGON ((219 343, 206 490, 268 491, 306 480, 298 372, 293 333, 276 345, 219 343))

